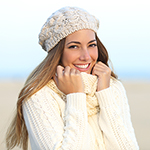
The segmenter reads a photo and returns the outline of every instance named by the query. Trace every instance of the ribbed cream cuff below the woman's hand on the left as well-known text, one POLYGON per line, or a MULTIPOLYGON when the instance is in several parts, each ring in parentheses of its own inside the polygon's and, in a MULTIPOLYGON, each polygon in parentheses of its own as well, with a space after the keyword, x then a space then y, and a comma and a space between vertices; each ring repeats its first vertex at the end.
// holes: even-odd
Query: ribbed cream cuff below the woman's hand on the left
POLYGON ((86 110, 86 94, 71 93, 67 95, 67 107, 73 107, 78 110, 86 110))

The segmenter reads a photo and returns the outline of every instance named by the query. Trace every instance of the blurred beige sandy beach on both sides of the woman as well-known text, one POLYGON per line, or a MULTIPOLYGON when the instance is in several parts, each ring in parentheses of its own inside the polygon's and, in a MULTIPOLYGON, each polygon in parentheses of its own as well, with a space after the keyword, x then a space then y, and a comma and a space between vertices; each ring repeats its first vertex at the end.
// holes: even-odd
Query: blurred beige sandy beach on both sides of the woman
MULTIPOLYGON (((150 81, 123 81, 123 84, 127 91, 132 123, 140 150, 150 150, 150 81)), ((5 132, 12 119, 22 86, 23 81, 0 82, 0 150, 6 150, 5 132)))

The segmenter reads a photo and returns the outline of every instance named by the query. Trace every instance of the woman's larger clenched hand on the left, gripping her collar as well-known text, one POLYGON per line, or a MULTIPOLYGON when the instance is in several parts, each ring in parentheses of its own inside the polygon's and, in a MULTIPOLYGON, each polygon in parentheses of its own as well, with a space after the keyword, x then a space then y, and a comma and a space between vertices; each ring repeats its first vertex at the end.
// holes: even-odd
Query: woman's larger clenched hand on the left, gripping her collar
POLYGON ((75 68, 57 66, 57 76, 54 81, 60 91, 64 94, 84 92, 84 85, 80 71, 75 68))

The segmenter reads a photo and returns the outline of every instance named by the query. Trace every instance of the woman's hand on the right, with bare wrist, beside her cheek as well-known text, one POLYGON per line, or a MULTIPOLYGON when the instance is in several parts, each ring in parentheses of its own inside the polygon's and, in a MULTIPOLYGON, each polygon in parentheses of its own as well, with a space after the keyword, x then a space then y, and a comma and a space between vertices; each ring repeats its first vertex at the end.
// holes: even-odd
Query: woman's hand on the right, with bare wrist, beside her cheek
POLYGON ((111 69, 102 62, 95 64, 92 75, 98 76, 97 91, 101 91, 110 86, 111 69))

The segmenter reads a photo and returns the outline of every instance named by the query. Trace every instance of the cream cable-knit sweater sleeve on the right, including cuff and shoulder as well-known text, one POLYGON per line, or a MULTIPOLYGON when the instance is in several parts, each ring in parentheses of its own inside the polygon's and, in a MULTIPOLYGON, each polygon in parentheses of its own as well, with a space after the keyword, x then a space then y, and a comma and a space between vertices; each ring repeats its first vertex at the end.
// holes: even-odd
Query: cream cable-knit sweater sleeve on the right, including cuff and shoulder
POLYGON ((125 89, 121 82, 96 92, 100 105, 99 126, 107 150, 138 150, 125 89))

